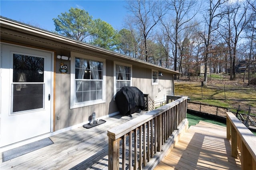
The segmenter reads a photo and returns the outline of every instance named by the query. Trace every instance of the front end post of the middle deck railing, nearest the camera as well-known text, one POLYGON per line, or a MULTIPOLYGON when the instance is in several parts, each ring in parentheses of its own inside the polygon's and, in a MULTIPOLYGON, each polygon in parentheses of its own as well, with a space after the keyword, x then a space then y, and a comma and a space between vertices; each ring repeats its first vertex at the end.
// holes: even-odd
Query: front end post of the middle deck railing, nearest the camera
POLYGON ((108 170, 119 169, 119 139, 108 137, 108 170))

